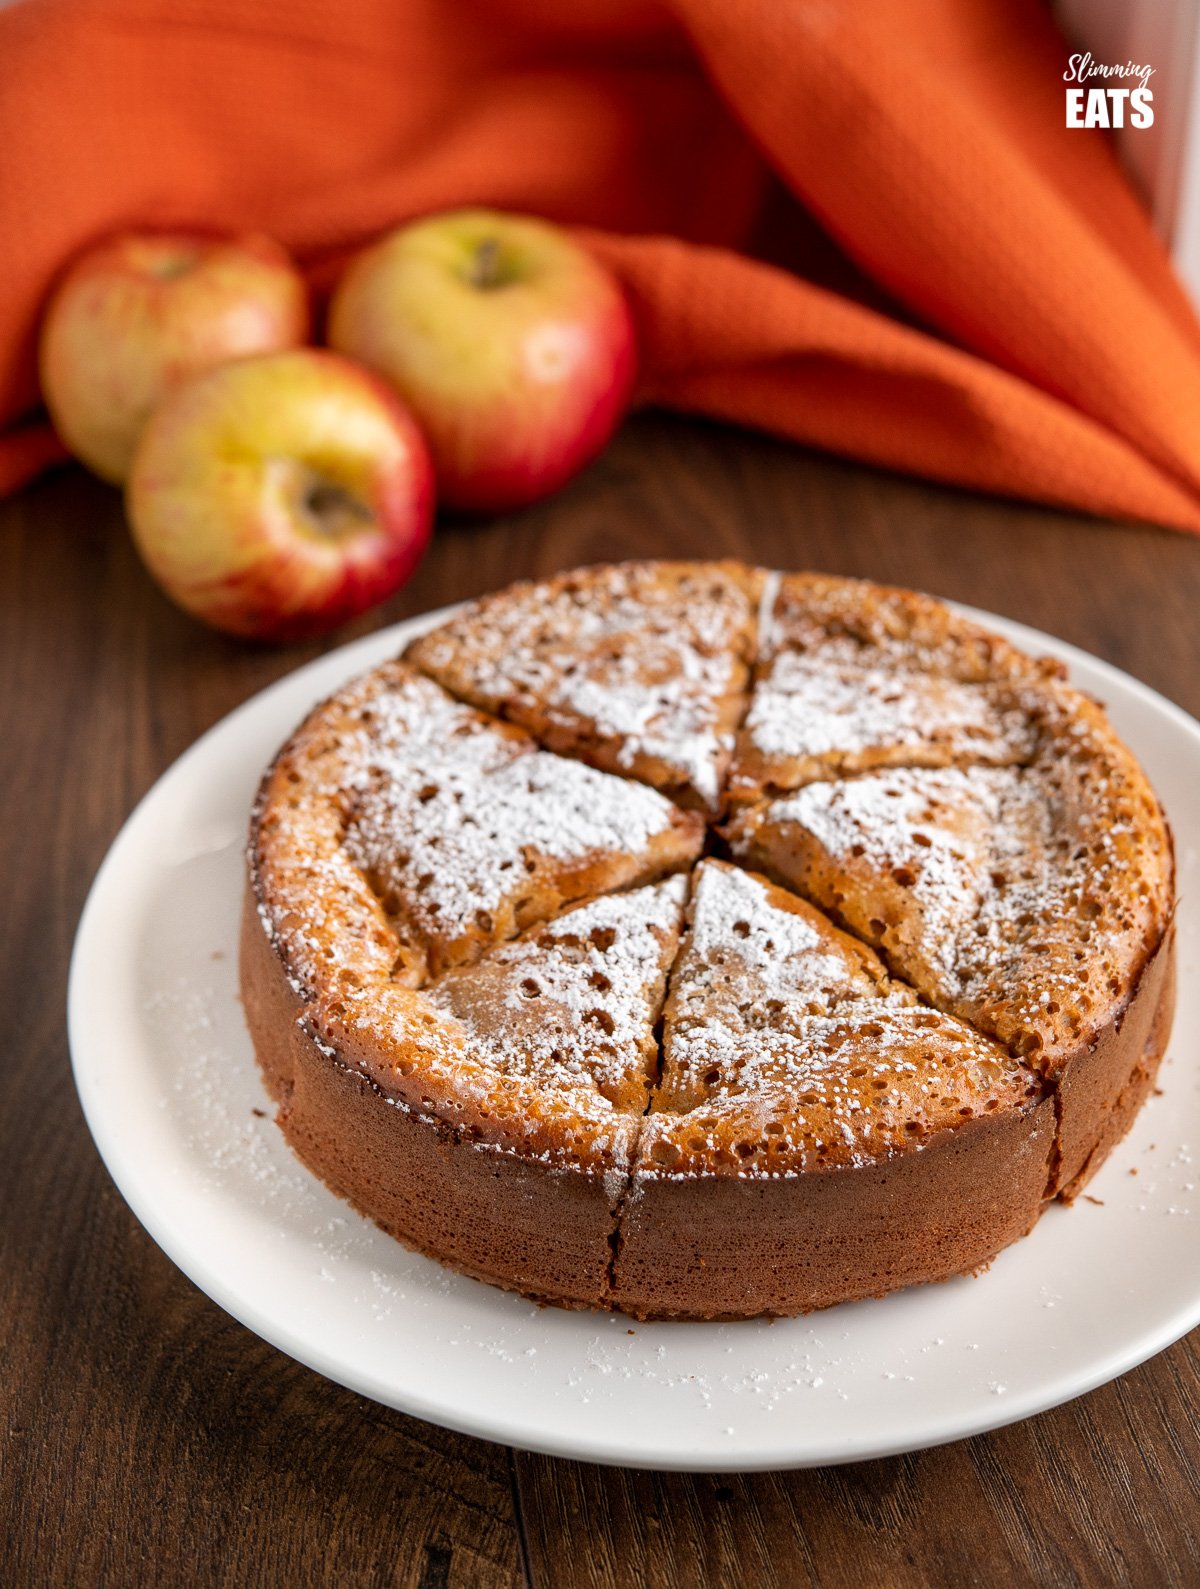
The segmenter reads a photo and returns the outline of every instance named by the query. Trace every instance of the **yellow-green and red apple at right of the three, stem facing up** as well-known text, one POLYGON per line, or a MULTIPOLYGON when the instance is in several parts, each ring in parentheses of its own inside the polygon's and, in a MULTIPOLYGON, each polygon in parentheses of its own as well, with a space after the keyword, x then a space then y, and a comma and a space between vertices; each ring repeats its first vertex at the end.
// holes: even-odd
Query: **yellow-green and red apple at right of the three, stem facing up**
POLYGON ((440 499, 485 512, 534 502, 582 469, 636 372, 610 272, 558 227, 493 210, 431 216, 359 254, 334 294, 329 342, 416 415, 440 499))

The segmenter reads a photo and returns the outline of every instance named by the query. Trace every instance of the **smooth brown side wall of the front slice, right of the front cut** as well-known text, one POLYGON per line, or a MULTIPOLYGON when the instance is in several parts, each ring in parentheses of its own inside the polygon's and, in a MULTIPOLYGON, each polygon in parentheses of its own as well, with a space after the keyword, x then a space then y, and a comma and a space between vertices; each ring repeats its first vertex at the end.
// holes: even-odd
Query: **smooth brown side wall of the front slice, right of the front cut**
POLYGON ((637 1317, 795 1314, 971 1273, 1033 1227, 1052 1149, 1044 1100, 860 1168, 634 1176, 614 1303, 637 1317))

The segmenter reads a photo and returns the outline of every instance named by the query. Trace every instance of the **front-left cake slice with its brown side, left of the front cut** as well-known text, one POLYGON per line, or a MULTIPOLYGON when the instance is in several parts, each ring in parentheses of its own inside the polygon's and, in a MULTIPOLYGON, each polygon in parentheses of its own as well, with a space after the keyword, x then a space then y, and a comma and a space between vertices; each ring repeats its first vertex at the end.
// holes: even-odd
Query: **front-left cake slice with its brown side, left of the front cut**
MULTIPOLYGON (((586 901, 423 993, 315 999, 278 1025, 269 1071, 288 1139, 401 1239, 528 1295, 610 1306, 685 893, 675 876, 586 901)), ((246 944, 265 945, 253 922, 246 944)))

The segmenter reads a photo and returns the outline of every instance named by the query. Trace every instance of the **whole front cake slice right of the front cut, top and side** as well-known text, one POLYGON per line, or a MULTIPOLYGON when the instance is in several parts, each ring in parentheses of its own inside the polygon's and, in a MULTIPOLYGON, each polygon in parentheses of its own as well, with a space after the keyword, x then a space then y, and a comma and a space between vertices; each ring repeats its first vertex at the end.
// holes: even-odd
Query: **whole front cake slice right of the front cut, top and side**
POLYGON ((977 1268, 1038 1217, 1036 1073, 761 877, 699 864, 663 1054, 614 1265, 629 1313, 882 1295, 977 1268))

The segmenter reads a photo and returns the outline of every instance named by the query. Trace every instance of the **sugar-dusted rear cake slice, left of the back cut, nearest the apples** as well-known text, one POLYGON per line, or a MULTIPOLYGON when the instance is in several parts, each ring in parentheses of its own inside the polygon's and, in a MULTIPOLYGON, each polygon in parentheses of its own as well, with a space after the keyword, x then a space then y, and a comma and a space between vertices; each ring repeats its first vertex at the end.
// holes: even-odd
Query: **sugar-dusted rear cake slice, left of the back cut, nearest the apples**
POLYGON ((486 596, 407 659, 577 756, 714 812, 745 706, 760 575, 623 563, 486 596))

